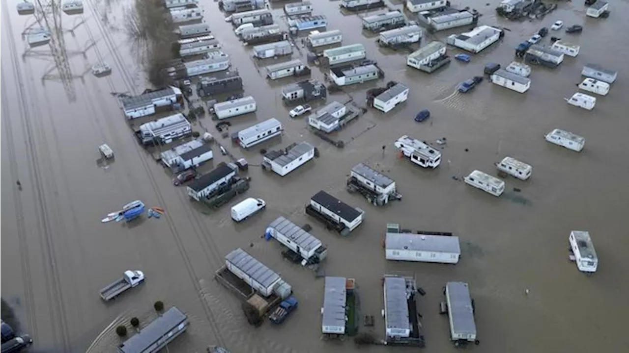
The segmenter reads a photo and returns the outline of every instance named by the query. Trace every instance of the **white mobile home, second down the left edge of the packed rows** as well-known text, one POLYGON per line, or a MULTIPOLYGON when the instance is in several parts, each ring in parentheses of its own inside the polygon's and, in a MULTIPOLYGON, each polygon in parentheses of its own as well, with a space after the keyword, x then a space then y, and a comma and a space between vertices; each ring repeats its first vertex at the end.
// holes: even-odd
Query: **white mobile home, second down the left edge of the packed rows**
POLYGON ((192 126, 181 113, 142 124, 138 131, 142 143, 147 145, 168 144, 191 133, 192 126))

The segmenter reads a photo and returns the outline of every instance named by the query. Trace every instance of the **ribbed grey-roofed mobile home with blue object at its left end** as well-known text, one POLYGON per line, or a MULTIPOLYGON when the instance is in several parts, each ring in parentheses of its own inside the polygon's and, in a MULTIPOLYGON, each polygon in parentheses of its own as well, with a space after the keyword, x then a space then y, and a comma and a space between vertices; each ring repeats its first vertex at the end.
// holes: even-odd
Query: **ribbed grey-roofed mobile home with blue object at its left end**
POLYGON ((304 263, 320 263, 328 255, 328 249, 319 239, 284 217, 278 217, 271 222, 265 235, 299 254, 304 263))

